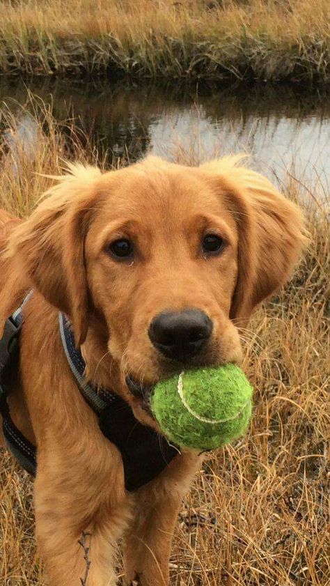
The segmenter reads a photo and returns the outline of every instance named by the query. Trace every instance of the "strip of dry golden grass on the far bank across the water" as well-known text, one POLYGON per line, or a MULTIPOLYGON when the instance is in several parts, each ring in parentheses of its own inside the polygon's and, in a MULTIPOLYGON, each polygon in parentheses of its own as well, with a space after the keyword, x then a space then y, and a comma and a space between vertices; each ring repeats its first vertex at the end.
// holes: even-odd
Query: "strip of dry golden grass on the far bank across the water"
POLYGON ((330 80, 328 0, 1 0, 0 72, 330 80))

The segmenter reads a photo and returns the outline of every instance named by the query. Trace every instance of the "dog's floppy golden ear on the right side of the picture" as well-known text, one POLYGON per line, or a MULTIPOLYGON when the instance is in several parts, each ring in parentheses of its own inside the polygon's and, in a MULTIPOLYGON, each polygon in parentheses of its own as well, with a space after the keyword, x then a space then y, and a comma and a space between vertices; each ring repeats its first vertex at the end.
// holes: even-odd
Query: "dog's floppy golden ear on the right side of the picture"
POLYGON ((223 157, 201 167, 218 185, 238 228, 238 275, 230 309, 238 323, 285 283, 305 241, 299 208, 241 160, 242 155, 223 157))

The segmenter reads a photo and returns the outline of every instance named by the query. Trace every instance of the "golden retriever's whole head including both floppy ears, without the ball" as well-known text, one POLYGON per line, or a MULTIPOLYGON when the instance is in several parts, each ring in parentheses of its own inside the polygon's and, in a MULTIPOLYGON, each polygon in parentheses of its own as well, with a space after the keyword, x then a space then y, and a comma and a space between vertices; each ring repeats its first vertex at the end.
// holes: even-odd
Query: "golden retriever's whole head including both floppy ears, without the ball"
POLYGON ((301 229, 297 207, 239 157, 148 157, 104 174, 73 166, 10 254, 78 344, 100 329, 136 395, 182 367, 242 360, 237 327, 285 282, 301 229))

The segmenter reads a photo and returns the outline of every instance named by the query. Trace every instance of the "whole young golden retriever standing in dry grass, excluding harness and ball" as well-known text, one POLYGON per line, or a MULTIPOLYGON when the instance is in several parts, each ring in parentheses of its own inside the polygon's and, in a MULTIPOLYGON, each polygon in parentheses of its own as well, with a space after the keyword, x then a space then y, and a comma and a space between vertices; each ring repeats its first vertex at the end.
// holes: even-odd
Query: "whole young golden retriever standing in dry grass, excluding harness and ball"
POLYGON ((125 490, 120 451, 68 366, 58 311, 86 380, 160 433, 144 391, 182 367, 239 364, 239 327, 288 278, 303 240, 297 206, 239 157, 185 167, 150 156, 105 173, 70 165, 31 217, 1 213, 1 328, 33 289, 10 405, 38 449, 36 538, 50 586, 84 578, 81 532, 88 586, 116 583, 119 538, 127 584, 167 585, 180 503, 203 458, 182 450, 125 490))

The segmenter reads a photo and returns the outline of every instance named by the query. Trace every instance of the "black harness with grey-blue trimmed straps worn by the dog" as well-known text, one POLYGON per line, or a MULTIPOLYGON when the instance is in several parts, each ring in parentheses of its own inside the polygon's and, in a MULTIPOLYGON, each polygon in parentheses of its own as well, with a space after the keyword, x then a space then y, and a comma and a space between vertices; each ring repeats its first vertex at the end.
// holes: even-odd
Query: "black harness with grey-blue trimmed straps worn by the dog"
MULTIPOLYGON (((30 295, 30 294, 29 294, 30 295)), ((27 298, 26 298, 27 300, 27 298)), ((24 302, 26 302, 24 300, 24 302)), ((0 339, 0 413, 3 417, 3 435, 10 452, 31 475, 36 475, 37 450, 17 429, 10 417, 8 395, 10 375, 19 368, 19 334, 22 330, 23 306, 6 321, 0 339)), ((88 406, 97 415, 103 435, 120 450, 125 472, 125 488, 136 491, 159 475, 178 449, 152 428, 135 419, 132 409, 120 396, 109 390, 95 390, 84 379, 86 364, 74 343, 70 321, 59 314, 59 327, 65 355, 77 382, 77 387, 88 406)))

